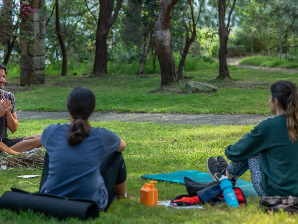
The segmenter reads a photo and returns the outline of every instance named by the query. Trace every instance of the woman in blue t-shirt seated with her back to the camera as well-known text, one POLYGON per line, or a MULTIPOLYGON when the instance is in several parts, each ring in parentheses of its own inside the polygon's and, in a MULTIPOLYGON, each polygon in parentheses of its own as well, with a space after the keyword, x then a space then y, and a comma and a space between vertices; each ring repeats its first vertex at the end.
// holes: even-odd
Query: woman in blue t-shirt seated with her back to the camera
POLYGON ((89 125, 94 108, 93 92, 74 88, 67 99, 70 123, 44 129, 41 143, 46 161, 40 192, 90 199, 106 210, 115 194, 127 197, 121 154, 126 144, 112 131, 89 125))

